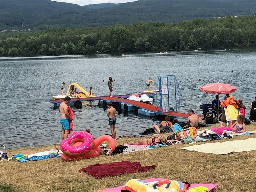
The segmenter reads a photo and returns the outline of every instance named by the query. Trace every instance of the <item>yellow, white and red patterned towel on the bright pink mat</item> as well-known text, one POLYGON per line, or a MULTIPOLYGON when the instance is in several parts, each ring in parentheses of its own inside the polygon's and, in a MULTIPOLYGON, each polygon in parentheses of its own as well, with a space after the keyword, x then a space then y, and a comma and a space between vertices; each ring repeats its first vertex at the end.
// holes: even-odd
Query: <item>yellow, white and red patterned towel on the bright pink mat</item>
POLYGON ((121 191, 142 192, 142 191, 172 191, 185 192, 187 185, 175 180, 156 180, 152 182, 139 179, 131 179, 127 181, 121 191))

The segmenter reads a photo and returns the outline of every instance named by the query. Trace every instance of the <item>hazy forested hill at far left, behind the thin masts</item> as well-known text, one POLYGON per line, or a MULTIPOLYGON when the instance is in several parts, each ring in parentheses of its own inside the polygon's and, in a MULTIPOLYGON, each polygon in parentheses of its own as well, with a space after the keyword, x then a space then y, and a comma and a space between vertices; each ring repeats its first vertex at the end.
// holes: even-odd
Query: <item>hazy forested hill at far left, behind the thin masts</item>
POLYGON ((82 12, 88 7, 50 0, 0 0, 0 30, 10 27, 30 26, 38 20, 64 12, 82 12))

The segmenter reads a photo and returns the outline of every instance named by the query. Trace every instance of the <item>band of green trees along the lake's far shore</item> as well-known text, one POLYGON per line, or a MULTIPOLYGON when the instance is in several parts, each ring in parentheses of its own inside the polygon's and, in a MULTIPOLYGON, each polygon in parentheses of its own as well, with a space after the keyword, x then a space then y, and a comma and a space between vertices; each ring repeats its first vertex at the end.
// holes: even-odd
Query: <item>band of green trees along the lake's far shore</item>
POLYGON ((1 56, 227 48, 256 45, 256 17, 60 28, 0 35, 1 56))

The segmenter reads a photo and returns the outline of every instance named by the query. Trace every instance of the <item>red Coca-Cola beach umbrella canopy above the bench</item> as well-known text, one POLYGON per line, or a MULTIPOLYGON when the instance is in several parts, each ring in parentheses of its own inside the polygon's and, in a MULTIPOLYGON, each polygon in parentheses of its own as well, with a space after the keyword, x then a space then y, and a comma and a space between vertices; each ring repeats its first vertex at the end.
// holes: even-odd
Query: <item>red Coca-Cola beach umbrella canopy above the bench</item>
POLYGON ((206 84, 203 87, 200 87, 200 90, 206 93, 213 94, 226 94, 236 91, 236 87, 231 86, 230 84, 225 83, 210 83, 206 84))

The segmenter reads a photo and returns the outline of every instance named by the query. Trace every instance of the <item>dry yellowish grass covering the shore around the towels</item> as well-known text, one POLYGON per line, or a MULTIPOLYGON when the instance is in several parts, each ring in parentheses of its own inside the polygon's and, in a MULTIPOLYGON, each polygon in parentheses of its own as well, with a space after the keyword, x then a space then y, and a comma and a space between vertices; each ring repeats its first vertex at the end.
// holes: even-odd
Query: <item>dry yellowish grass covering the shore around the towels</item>
MULTIPOLYGON (((256 130, 256 124, 247 126, 246 129, 256 130)), ((233 140, 243 140, 251 137, 256 137, 256 134, 236 136, 233 140)), ((138 138, 117 139, 116 144, 120 145, 130 140, 135 141, 138 138)), ((226 140, 228 139, 215 142, 226 140)), ((216 191, 256 191, 256 151, 214 155, 179 149, 186 146, 189 146, 189 144, 116 156, 100 155, 92 159, 75 162, 63 162, 60 158, 26 163, 0 162, 0 191, 97 191, 123 185, 130 179, 151 177, 189 181, 191 183, 220 183, 216 191), (149 172, 124 174, 100 180, 78 172, 79 169, 91 164, 123 160, 139 161, 142 165, 155 164, 157 167, 149 172)), ((53 146, 16 149, 8 151, 8 155, 16 153, 32 154, 51 148, 53 146)))

